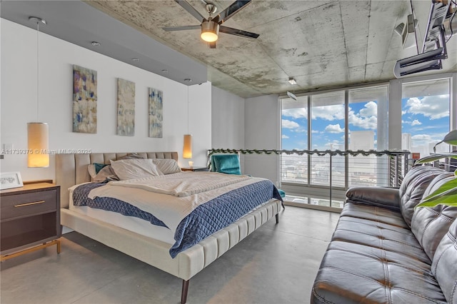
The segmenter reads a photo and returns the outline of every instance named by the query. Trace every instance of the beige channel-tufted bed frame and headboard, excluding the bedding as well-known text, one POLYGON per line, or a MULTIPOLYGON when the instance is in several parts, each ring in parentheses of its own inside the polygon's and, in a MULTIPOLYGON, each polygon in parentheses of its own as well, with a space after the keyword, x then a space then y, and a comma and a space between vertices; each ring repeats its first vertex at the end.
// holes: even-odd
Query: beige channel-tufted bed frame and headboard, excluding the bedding
MULTIPOLYGON (((144 158, 174 159, 178 161, 177 152, 136 154, 144 158)), ((70 207, 69 188, 91 181, 91 176, 87 169, 89 164, 110 163, 111 160, 116 161, 126 155, 127 153, 56 155, 56 184, 61 186, 61 225, 181 278, 181 303, 186 303, 189 280, 194 275, 233 248, 234 245, 261 227, 273 216, 276 217, 276 223, 278 223, 278 211, 282 202, 276 198, 271 198, 234 223, 221 228, 190 248, 181 250, 172 258, 170 253, 171 244, 166 241, 166 236, 162 238, 155 237, 154 234, 137 233, 125 227, 116 226, 109 221, 95 218, 96 215, 87 214, 85 213, 86 211, 76 212, 74 208, 70 207)))

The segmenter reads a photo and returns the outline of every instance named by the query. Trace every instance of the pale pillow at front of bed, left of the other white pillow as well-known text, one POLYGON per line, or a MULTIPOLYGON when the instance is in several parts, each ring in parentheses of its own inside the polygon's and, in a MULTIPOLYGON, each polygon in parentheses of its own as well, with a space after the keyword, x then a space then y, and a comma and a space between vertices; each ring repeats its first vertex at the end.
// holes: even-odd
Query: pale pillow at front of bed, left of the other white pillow
POLYGON ((163 176, 157 166, 152 163, 150 158, 122 159, 120 161, 111 161, 111 167, 119 176, 121 181, 132 178, 145 178, 151 176, 163 176))

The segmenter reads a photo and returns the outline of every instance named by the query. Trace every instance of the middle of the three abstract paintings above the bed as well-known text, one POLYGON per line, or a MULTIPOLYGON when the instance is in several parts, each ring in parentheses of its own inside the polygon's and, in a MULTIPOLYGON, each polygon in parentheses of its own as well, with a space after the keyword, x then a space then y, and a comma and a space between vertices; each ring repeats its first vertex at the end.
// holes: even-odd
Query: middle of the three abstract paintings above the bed
POLYGON ((117 78, 117 135, 135 135, 135 83, 117 78))

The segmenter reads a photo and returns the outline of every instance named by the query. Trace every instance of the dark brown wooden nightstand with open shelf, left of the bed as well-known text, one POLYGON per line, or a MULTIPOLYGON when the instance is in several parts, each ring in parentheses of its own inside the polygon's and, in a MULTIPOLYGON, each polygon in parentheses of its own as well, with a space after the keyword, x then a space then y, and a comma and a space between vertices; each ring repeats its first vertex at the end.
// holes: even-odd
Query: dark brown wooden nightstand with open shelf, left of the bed
POLYGON ((1 261, 57 245, 60 253, 60 186, 24 182, 0 191, 1 261))

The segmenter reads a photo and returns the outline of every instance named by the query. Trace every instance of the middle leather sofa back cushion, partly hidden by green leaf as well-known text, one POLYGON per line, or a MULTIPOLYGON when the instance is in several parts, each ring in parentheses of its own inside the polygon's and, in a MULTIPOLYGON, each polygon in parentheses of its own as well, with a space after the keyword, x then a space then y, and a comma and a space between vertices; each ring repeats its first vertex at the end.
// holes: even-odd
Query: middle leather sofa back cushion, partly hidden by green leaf
MULTIPOLYGON (((451 178, 454 178, 453 173, 441 173, 436 176, 423 193, 423 196, 426 197, 428 194, 433 193, 451 178)), ((411 230, 431 260, 433 260, 438 243, 440 243, 443 235, 448 232, 449 226, 451 226, 455 218, 457 218, 457 207, 438 205, 434 208, 416 208, 414 211, 411 230)))

